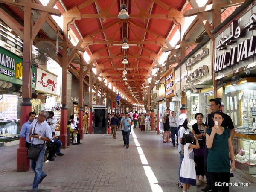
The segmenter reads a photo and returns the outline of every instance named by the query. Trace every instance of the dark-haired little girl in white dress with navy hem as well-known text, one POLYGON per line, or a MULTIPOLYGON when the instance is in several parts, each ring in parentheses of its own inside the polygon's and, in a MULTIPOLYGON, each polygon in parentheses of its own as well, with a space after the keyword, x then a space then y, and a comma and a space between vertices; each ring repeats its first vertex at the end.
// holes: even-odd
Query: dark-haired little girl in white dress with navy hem
POLYGON ((193 148, 199 149, 195 134, 185 131, 181 144, 184 145, 184 159, 181 163, 180 182, 183 183, 183 192, 189 192, 190 185, 196 185, 196 173, 193 148), (195 140, 196 145, 192 144, 195 140))

